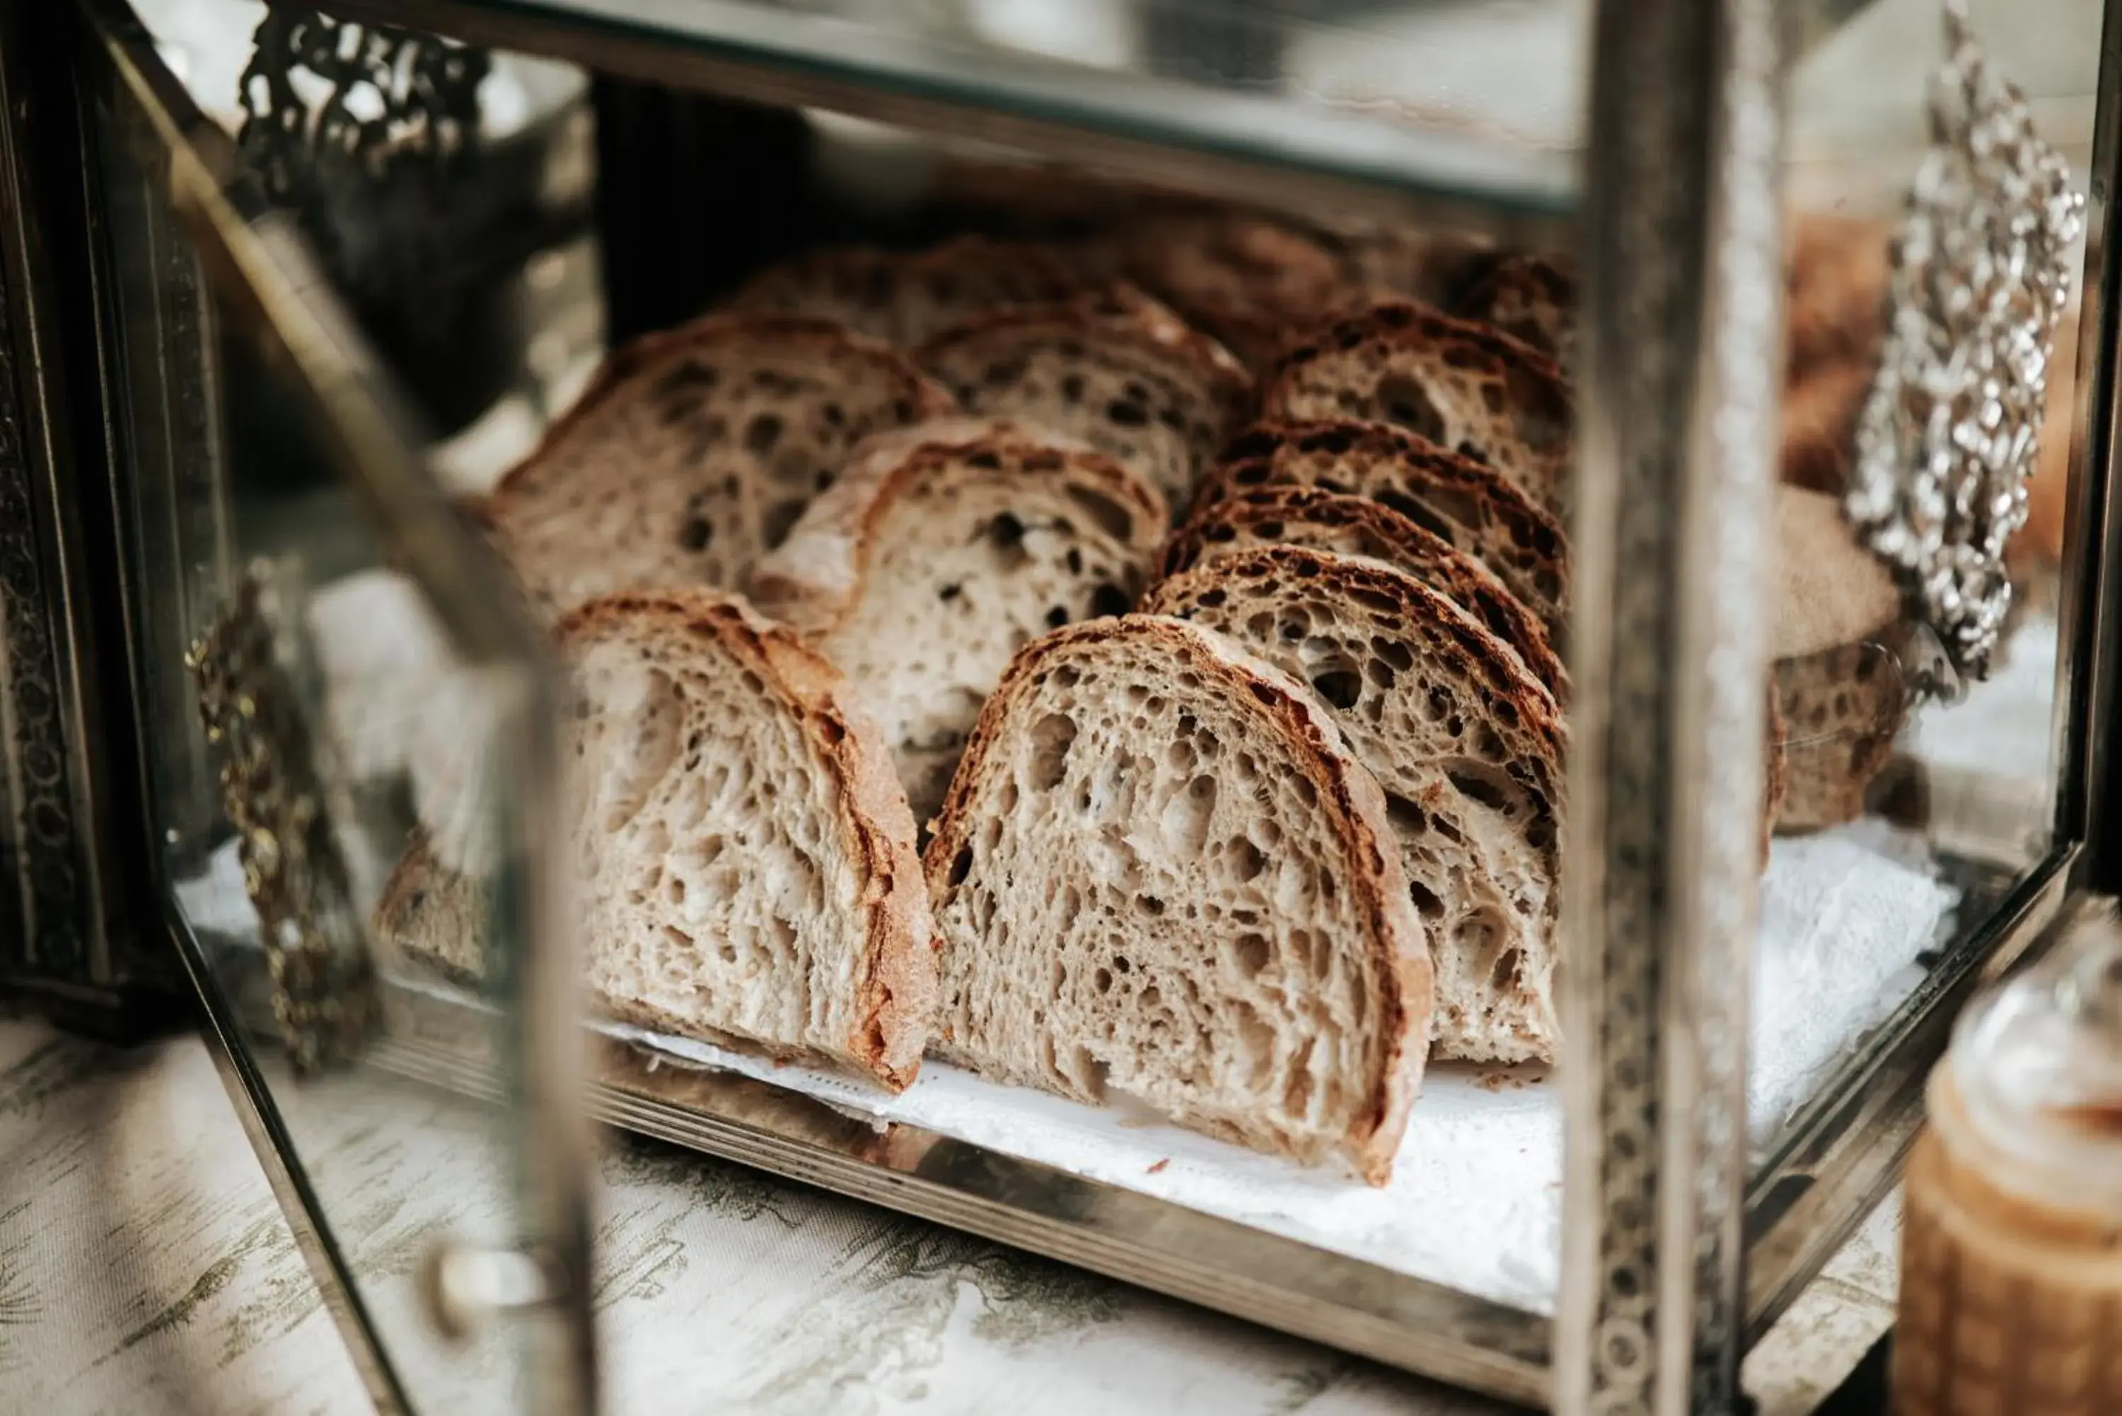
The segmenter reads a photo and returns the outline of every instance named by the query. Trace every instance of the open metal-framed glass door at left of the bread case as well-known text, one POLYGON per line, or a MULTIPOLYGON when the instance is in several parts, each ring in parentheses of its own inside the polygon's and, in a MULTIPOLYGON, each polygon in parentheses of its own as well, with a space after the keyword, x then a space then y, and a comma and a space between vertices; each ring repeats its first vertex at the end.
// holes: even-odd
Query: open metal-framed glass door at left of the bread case
POLYGON ((170 930, 380 1405, 590 1410, 537 641, 229 136, 127 6, 64 23, 170 930), (431 896, 460 928, 380 953, 431 896))

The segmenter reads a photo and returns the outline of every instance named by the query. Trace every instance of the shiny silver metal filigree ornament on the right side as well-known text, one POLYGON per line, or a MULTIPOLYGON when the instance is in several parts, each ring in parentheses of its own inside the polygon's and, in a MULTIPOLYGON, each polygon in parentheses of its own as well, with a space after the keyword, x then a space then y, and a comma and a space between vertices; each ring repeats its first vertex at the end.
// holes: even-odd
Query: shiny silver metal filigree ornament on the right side
POLYGON ((1965 0, 1946 2, 1944 23, 1931 151, 1893 251, 1886 352, 1846 505, 1965 681, 1988 673, 2012 605, 2003 550, 2027 522, 2084 197, 2024 96, 1990 68, 1965 0))

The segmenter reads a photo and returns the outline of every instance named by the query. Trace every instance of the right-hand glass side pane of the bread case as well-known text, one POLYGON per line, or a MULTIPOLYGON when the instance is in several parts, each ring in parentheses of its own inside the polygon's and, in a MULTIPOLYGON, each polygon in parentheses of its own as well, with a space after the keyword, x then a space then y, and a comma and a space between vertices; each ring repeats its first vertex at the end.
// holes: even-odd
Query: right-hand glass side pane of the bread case
MULTIPOLYGON (((2088 187, 2103 6, 2084 0, 1969 4, 1995 68, 2029 96, 2033 123, 2088 187)), ((1791 85, 1791 367, 1785 478, 1793 495, 1846 490, 1855 422, 1880 359, 1889 242, 1923 159, 1927 83, 1944 57, 1940 6, 1880 0, 1825 40, 1791 85), (1804 488, 1804 490, 1795 490, 1804 488)), ((1791 592, 1778 605, 1778 688, 1789 743, 1785 834, 1763 887, 1757 979, 1844 1002, 1757 1017, 1755 1047, 1816 1053, 1804 1085, 1759 1093, 1755 1142, 1774 1142, 1842 1093, 1842 1064, 1897 1040, 1910 998, 1956 977, 2010 892, 2054 845, 2058 705, 2071 664, 2058 654, 2063 510, 2082 461, 2073 420, 2077 299, 2097 272, 2067 253, 2069 312, 2056 329, 2048 414, 2029 486, 2029 520, 2012 539, 2012 609, 1993 673, 1925 701, 1935 641, 1891 601, 1869 567, 1842 580, 1840 603, 1791 592), (1857 603, 1878 605, 1857 611, 1857 603), (1869 614, 1874 624, 1857 620, 1869 614), (1840 626, 1816 633, 1823 616, 1840 626), (1850 618, 1857 616, 1857 618, 1850 618), (1827 637, 1840 643, 1827 643, 1827 637), (1804 981, 1804 983, 1799 983, 1804 981)), ((1819 505, 1819 503, 1814 503, 1819 505)), ((1793 539, 1793 558, 1823 556, 1793 539)), ((1840 554, 1840 552, 1838 552, 1840 554)), ((1814 584, 1829 584, 1821 575, 1814 584)), ((1950 679, 1952 675, 1948 675, 1950 679)))

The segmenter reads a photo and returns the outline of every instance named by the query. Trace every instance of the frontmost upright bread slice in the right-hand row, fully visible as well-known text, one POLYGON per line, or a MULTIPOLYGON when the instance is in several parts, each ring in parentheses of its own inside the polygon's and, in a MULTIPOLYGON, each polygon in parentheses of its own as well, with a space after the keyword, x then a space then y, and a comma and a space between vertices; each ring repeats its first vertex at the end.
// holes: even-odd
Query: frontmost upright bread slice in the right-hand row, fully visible
POLYGON ((1377 783, 1297 681, 1178 620, 1036 639, 927 873, 944 1059, 1390 1176, 1430 964, 1377 783))

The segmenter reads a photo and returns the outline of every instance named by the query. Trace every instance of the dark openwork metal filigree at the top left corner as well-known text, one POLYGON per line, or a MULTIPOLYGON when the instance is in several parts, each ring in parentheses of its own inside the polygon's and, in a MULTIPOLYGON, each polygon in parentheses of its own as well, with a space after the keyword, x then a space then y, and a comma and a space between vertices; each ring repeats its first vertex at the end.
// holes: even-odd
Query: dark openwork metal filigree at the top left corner
POLYGON ((342 278, 433 282, 490 66, 484 49, 431 34, 274 8, 253 34, 238 144, 342 278))

